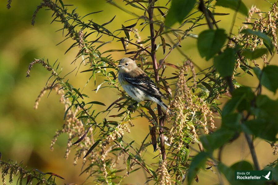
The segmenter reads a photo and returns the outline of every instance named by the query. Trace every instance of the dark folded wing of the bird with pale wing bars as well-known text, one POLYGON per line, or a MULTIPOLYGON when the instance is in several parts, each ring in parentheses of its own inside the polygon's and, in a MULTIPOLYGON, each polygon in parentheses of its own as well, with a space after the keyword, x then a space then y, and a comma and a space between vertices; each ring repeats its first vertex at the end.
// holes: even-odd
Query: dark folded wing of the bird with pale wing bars
POLYGON ((125 80, 129 83, 132 84, 134 86, 136 86, 137 88, 139 88, 140 90, 142 90, 143 92, 159 97, 159 98, 163 98, 163 99, 167 99, 162 92, 159 91, 158 87, 154 84, 154 82, 150 79, 149 76, 147 76, 145 73, 140 74, 137 77, 133 77, 133 76, 124 76, 125 80))

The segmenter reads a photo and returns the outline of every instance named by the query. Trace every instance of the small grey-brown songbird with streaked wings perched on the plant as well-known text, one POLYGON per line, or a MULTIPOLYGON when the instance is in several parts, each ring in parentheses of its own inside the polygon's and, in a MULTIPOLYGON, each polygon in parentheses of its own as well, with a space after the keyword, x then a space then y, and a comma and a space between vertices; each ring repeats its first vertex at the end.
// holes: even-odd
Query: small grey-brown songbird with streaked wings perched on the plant
POLYGON ((171 113, 168 106, 161 100, 167 100, 167 98, 134 60, 123 58, 117 67, 119 68, 118 80, 130 97, 138 103, 146 100, 154 101, 166 112, 171 113))

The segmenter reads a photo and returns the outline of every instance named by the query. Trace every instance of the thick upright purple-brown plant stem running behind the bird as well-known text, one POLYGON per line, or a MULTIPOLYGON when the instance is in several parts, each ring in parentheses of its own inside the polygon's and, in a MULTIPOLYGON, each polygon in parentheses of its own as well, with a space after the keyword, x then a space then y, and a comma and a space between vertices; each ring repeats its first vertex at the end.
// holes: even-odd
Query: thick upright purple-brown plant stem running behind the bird
MULTIPOLYGON (((151 36, 151 57, 153 61, 153 67, 154 67, 154 79, 155 82, 158 83, 159 81, 159 76, 158 76, 158 66, 157 66, 157 61, 156 61, 156 56, 155 56, 155 38, 154 38, 154 24, 153 24, 153 9, 154 4, 152 0, 149 0, 149 8, 148 8, 148 14, 149 14, 149 20, 150 20, 150 36, 151 36)), ((157 110, 158 110, 158 117, 159 117, 159 140, 160 140, 160 150, 161 150, 161 156, 162 160, 166 159, 166 153, 165 153, 165 145, 164 145, 164 135, 162 134, 162 126, 164 126, 163 123, 163 118, 162 118, 162 110, 161 106, 157 104, 157 110)))

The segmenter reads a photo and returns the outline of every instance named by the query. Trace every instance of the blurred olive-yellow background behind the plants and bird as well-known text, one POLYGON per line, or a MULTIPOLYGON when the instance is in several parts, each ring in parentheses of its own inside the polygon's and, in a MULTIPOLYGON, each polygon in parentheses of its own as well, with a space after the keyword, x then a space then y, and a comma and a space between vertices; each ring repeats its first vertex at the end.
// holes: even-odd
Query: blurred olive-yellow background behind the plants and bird
MULTIPOLYGON (((270 1, 274 2, 273 0, 270 1)), ((125 6, 122 1, 115 2, 125 6)), ((271 6, 271 4, 264 0, 244 0, 243 2, 248 8, 256 5, 262 11, 267 11, 271 6)), ((25 78, 28 64, 34 58, 45 57, 51 63, 58 59, 61 63, 60 66, 63 67, 63 74, 78 67, 81 62, 80 59, 75 64, 70 64, 78 52, 77 48, 70 50, 64 55, 65 51, 73 43, 72 40, 66 40, 64 43, 56 46, 64 38, 61 32, 55 32, 61 28, 60 23, 54 22, 50 25, 52 12, 45 11, 44 9, 40 10, 36 17, 35 26, 31 25, 32 14, 39 3, 40 0, 13 0, 11 9, 7 10, 6 1, 3 0, 0 2, 0 151, 4 160, 23 161, 23 164, 29 168, 40 169, 44 172, 50 171, 61 175, 65 180, 58 180, 58 184, 81 184, 87 176, 86 174, 79 176, 81 162, 76 166, 73 165, 74 151, 70 154, 69 159, 66 160, 63 158, 67 135, 64 134, 58 138, 54 151, 50 151, 49 149, 50 141, 55 131, 63 125, 64 107, 59 103, 59 97, 54 92, 50 93, 49 97, 44 96, 42 98, 37 110, 33 109, 37 95, 50 76, 49 72, 42 66, 35 65, 31 71, 31 77, 29 79, 25 78)), ((159 3, 165 5, 166 1, 158 1, 158 6, 159 3)), ((134 18, 132 15, 106 3, 104 0, 64 0, 64 4, 74 4, 70 9, 77 7, 77 12, 80 15, 103 10, 99 14, 93 14, 88 17, 88 19, 93 19, 96 23, 108 22, 116 15, 115 20, 108 25, 108 28, 113 31, 120 29, 124 21, 134 18)), ((125 6, 125 8, 141 14, 140 11, 130 6, 125 6)), ((221 19, 221 22, 218 23, 219 27, 229 31, 233 12, 221 7, 217 9, 218 13, 231 13, 227 16, 217 17, 217 20, 221 19)), ((238 30, 242 22, 244 22, 244 17, 239 14, 236 19, 234 31, 238 30)), ((127 26, 133 23, 131 21, 124 23, 124 25, 127 26)), ((178 27, 178 25, 174 27, 178 27)), ((139 26, 137 28, 141 29, 139 26)), ((198 34, 201 29, 205 29, 205 27, 200 27, 200 29, 196 29, 192 33, 198 34)), ((140 33, 142 39, 146 38, 147 31, 148 28, 140 33)), ((94 39, 94 37, 91 38, 94 39)), ((206 68, 212 64, 212 61, 206 62, 200 58, 196 49, 196 39, 187 38, 183 40, 181 45, 181 49, 202 68, 206 68)), ((105 47, 102 47, 101 51, 119 48, 122 48, 121 44, 114 42, 113 44, 107 44, 105 47)), ((113 53, 113 58, 116 60, 122 57, 124 57, 124 53, 122 52, 113 53)), ((158 51, 158 59, 162 59, 162 57, 162 51, 158 51)), ((168 61, 176 65, 181 64, 182 60, 183 57, 178 52, 173 52, 168 57, 168 61)), ((272 64, 277 64, 276 56, 272 60, 272 64)), ((171 74, 171 72, 168 73, 171 74)), ((84 73, 74 72, 74 74, 68 77, 70 83, 82 89, 89 76, 84 73)), ((96 86, 101 83, 101 80, 97 80, 96 86)), ((242 84, 251 84, 254 87, 257 84, 256 78, 251 76, 238 78, 238 81, 242 84)), ((91 91, 96 86, 91 81, 83 91, 90 96, 91 101, 103 99, 103 102, 109 105, 109 102, 111 103, 118 97, 116 91, 113 89, 100 89, 98 93, 91 91)), ((275 96, 266 89, 263 89, 263 93, 273 99, 277 98, 277 95, 275 96)), ((224 102, 225 100, 221 101, 224 102)), ((104 108, 99 107, 99 109, 102 110, 104 108)), ((216 119, 216 121, 219 124, 219 120, 216 119)), ((135 126, 131 129, 131 134, 128 137, 140 143, 149 131, 149 124, 144 119, 139 119, 134 121, 134 123, 135 126)), ((256 139, 255 146, 261 167, 264 167, 277 158, 272 155, 272 149, 267 142, 256 139)), ((149 163, 157 155, 151 151, 145 154, 145 158, 149 163)), ((223 162, 231 165, 243 159, 251 162, 246 141, 243 137, 240 137, 233 144, 225 147, 223 151, 223 162)), ((198 184, 208 185, 216 184, 217 182, 217 175, 211 170, 200 172, 198 184)), ((124 183, 144 184, 145 174, 139 170, 137 173, 129 175, 124 180, 124 183)))

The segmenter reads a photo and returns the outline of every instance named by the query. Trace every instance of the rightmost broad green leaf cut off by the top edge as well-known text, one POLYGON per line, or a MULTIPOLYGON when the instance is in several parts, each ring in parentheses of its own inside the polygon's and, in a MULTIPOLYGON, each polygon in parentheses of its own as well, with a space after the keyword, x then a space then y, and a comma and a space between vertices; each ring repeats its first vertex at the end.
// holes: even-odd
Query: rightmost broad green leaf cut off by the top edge
POLYGON ((241 0, 216 0, 215 6, 223 6, 232 10, 238 11, 243 15, 248 16, 248 8, 241 0))

